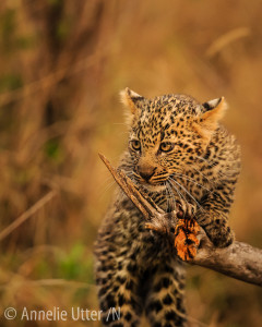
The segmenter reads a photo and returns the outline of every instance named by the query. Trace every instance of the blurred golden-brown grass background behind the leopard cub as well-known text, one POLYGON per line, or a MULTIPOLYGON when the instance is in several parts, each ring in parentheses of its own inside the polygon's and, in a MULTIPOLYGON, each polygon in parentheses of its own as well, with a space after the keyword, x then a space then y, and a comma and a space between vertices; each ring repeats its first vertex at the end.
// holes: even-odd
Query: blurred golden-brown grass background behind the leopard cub
MULTIPOLYGON (((226 97, 243 158, 230 221, 262 247, 261 22, 257 0, 1 0, 1 326, 60 325, 8 322, 8 306, 98 307, 92 246, 114 185, 97 153, 116 164, 127 144, 126 86, 226 97)), ((262 325, 258 287, 188 276, 190 326, 262 325)))

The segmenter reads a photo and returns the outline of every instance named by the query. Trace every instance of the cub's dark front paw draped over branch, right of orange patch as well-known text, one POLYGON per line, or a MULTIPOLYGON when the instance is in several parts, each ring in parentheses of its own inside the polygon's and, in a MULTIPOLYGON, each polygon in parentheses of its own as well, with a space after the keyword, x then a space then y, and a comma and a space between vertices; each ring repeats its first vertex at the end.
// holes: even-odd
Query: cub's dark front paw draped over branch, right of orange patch
POLYGON ((209 226, 205 232, 216 247, 227 247, 235 240, 235 233, 227 225, 209 226))

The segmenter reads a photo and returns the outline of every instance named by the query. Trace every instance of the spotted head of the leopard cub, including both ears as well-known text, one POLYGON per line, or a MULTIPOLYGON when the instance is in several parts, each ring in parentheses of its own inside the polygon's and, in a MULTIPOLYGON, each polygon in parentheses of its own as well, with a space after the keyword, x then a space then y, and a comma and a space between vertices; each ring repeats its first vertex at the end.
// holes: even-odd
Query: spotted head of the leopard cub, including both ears
POLYGON ((223 97, 201 105, 186 95, 147 99, 129 88, 121 100, 128 108, 133 175, 148 190, 159 190, 176 173, 192 169, 226 109, 223 97))

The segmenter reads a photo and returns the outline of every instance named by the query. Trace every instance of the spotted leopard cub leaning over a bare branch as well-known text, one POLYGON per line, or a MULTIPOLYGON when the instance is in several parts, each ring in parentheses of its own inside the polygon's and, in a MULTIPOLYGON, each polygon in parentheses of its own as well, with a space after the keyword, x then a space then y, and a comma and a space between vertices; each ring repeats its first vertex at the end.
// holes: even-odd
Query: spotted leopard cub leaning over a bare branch
MULTIPOLYGON (((224 98, 201 105, 186 95, 146 99, 126 89, 122 100, 131 112, 121 169, 166 211, 175 201, 193 206, 211 241, 228 246, 240 149, 219 124, 224 98)), ((184 326, 183 263, 166 235, 144 228, 121 191, 99 229, 95 253, 104 325, 139 326, 145 313, 151 326, 184 326), (114 320, 110 307, 118 306, 121 318, 114 320)))

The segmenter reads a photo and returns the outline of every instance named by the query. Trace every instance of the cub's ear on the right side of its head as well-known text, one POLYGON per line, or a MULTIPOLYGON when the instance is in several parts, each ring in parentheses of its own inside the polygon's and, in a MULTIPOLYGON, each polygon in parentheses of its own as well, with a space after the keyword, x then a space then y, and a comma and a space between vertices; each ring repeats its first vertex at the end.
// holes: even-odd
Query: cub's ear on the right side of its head
POLYGON ((201 116, 200 124, 206 130, 214 131, 227 110, 227 102, 224 97, 221 97, 202 106, 204 113, 201 116))

